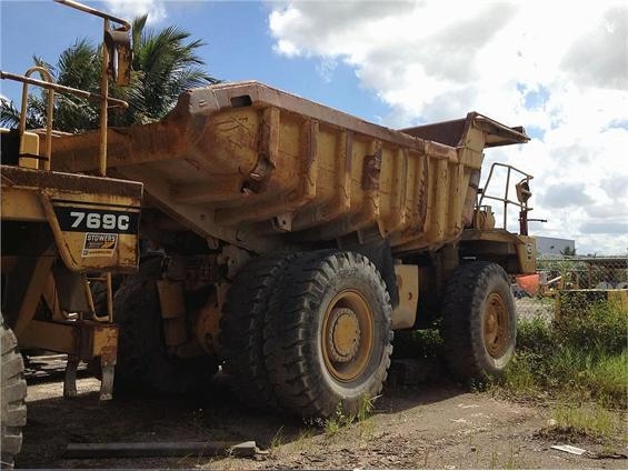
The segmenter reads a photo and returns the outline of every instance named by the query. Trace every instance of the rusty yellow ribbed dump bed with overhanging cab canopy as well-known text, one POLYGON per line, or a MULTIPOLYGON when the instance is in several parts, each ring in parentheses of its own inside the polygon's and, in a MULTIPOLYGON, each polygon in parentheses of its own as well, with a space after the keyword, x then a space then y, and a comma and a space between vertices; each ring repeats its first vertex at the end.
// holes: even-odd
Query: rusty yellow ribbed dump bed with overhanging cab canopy
MULTIPOLYGON (((54 139, 54 168, 97 169, 98 139, 54 139)), ((206 238, 266 252, 377 230, 403 252, 458 238, 482 149, 526 141, 475 112, 396 131, 237 82, 185 92, 160 122, 111 129, 108 166, 206 238)))

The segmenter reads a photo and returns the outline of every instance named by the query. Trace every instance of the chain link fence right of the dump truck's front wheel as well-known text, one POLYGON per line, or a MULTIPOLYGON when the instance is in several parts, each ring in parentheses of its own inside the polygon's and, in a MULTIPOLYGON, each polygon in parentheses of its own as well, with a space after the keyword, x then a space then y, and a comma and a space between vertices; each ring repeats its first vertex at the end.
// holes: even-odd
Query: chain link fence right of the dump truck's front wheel
POLYGON ((628 255, 542 255, 537 274, 512 284, 519 319, 555 319, 609 302, 628 311, 628 255))

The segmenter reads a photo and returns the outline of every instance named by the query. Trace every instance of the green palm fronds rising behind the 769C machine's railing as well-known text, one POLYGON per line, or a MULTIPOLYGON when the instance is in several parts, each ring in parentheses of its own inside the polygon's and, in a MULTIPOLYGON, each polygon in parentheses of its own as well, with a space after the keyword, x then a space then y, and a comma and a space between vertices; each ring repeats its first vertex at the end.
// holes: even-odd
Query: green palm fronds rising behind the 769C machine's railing
MULTIPOLYGON (((217 83, 219 80, 202 69, 205 62, 197 50, 200 40, 186 42, 190 33, 176 27, 160 31, 146 28, 148 16, 132 22, 133 62, 131 83, 120 88, 110 86, 110 94, 129 102, 122 112, 109 113, 109 123, 130 126, 163 118, 177 102, 181 91, 217 83)), ((101 49, 87 39, 80 39, 66 49, 57 66, 33 58, 37 66, 48 69, 57 83, 98 93, 100 91, 101 49)), ((17 127, 19 110, 11 102, 0 103, 0 123, 17 127)), ((99 124, 99 103, 73 96, 56 94, 54 129, 78 132, 96 129, 99 124)), ((46 123, 46 93, 31 94, 27 112, 27 128, 42 128, 46 123)))

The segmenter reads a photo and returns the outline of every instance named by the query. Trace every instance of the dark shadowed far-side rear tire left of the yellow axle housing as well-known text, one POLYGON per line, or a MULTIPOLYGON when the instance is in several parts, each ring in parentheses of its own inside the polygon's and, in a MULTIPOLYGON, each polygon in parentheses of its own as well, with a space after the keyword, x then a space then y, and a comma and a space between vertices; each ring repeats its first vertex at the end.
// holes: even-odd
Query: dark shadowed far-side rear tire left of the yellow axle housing
POLYGON ((161 258, 146 260, 113 298, 114 321, 120 325, 116 393, 193 392, 218 371, 215 358, 180 359, 168 353, 156 283, 161 262, 161 258))

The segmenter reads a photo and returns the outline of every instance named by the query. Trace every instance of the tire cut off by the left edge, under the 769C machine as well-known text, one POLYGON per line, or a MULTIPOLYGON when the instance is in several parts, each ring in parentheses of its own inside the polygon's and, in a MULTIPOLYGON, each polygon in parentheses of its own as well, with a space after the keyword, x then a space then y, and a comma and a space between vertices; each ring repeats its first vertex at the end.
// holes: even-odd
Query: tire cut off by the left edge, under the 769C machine
POLYGON ((27 423, 27 382, 24 362, 18 352, 13 331, 2 319, 0 345, 2 349, 2 468, 12 468, 22 448, 22 428, 27 423))

